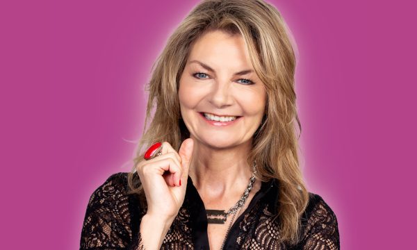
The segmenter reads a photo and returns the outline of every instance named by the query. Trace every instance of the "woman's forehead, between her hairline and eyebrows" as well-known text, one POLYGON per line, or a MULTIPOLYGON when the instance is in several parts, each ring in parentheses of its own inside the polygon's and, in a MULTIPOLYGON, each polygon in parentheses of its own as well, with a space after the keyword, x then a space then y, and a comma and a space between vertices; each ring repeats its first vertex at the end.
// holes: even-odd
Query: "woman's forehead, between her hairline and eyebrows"
POLYGON ((228 67, 252 68, 242 36, 230 35, 224 31, 204 33, 190 50, 188 62, 191 60, 202 60, 213 67, 228 65, 228 67))

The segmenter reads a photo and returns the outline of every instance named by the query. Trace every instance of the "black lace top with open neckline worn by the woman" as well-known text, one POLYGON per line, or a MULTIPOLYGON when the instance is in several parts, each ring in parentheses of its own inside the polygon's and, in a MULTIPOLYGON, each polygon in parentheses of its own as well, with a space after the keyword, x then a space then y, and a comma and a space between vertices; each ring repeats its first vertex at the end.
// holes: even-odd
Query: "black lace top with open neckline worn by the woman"
MULTIPOLYGON (((275 215, 278 181, 263 182, 246 210, 236 219, 224 249, 340 249, 336 215, 317 194, 310 193, 302 217, 302 238, 297 245, 279 242, 275 215)), ((146 202, 138 194, 126 194, 127 173, 110 176, 91 195, 80 249, 140 249, 140 220, 146 202)), ((188 177, 186 197, 161 249, 209 249, 204 203, 188 177)))

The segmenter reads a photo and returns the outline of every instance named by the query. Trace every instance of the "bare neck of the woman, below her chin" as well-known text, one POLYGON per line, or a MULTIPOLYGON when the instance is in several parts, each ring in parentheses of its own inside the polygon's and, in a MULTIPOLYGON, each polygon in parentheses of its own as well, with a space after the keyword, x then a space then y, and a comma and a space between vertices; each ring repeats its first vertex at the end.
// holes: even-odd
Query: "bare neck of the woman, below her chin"
POLYGON ((252 142, 214 149, 193 139, 195 144, 189 174, 195 188, 210 197, 240 196, 252 175, 252 166, 246 160, 252 142))

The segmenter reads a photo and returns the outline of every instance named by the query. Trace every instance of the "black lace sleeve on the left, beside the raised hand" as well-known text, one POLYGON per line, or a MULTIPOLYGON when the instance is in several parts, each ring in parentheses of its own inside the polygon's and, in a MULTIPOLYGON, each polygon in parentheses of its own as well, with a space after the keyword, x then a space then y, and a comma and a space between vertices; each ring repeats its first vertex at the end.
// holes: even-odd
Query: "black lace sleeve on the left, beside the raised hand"
POLYGON ((88 202, 80 250, 143 249, 140 233, 132 235, 125 173, 113 174, 88 202))

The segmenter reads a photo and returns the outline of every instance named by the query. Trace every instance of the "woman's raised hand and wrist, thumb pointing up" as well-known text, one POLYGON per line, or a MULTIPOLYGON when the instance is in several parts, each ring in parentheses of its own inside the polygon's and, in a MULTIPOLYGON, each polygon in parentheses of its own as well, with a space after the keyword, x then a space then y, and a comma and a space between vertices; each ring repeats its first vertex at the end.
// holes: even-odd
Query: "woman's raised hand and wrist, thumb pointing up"
POLYGON ((136 165, 147 200, 147 217, 171 224, 186 195, 193 139, 184 140, 177 153, 163 142, 162 155, 136 165))

